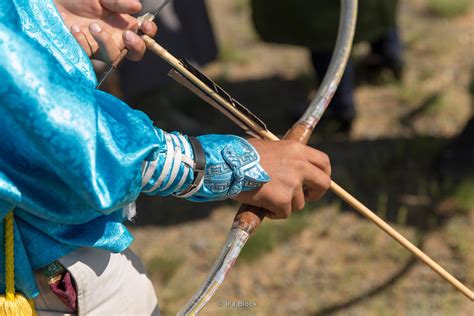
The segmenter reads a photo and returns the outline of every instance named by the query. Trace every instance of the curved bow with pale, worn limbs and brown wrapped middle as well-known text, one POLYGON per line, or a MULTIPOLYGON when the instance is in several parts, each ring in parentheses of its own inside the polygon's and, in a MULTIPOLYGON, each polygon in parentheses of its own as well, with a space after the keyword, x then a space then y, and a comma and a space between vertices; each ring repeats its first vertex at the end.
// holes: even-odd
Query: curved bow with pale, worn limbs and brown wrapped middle
MULTIPOLYGON (((357 3, 357 0, 341 0, 339 32, 328 71, 314 100, 298 122, 286 133, 284 139, 307 143, 312 131, 332 99, 350 56, 357 20, 357 3)), ((268 140, 279 140, 272 133, 267 133, 263 137, 268 140)), ((331 188, 333 188, 333 184, 331 188)), ((257 229, 266 214, 267 211, 263 208, 246 204, 240 207, 234 218, 227 241, 206 280, 179 311, 178 315, 195 315, 206 305, 224 281, 250 235, 257 229)))

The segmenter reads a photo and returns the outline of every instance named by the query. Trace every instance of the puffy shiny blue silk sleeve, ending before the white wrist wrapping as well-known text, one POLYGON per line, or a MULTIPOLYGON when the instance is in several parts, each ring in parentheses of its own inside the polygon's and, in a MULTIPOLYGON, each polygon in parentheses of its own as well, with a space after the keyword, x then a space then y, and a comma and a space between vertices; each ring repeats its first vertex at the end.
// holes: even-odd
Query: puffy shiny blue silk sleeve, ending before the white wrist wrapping
POLYGON ((1 25, 0 42, 0 160, 30 193, 3 198, 41 213, 52 201, 109 213, 135 200, 142 162, 161 145, 148 117, 71 80, 50 55, 1 25))

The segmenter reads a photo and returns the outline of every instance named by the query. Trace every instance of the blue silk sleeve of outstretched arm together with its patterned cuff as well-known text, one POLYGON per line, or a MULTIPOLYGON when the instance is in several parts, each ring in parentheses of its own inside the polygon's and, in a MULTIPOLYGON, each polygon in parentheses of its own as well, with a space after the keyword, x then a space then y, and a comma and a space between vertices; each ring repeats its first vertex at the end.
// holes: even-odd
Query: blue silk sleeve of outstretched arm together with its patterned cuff
MULTIPOLYGON (((105 214, 134 201, 142 189, 169 195, 192 182, 193 153, 186 137, 155 129, 142 112, 95 90, 95 82, 72 77, 45 48, 1 27, 0 41, 11 43, 0 46, 0 132, 6 140, 0 159, 10 166, 9 178, 16 183, 21 179, 41 200, 69 201, 73 195, 105 214), (18 161, 41 166, 32 169, 44 176, 25 173, 18 161), (153 162, 152 171, 147 161, 153 162), (43 192, 51 187, 61 190, 43 192)), ((232 197, 268 181, 245 140, 209 135, 200 141, 208 166, 204 185, 192 200, 232 197)), ((32 200, 10 199, 38 210, 32 200)))

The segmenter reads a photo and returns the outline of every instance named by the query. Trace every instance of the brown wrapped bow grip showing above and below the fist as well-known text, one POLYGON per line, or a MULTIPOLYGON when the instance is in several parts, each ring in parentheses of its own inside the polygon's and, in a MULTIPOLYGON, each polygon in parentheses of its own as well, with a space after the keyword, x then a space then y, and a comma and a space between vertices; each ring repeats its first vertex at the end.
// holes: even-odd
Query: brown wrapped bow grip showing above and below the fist
MULTIPOLYGON (((283 139, 306 144, 312 132, 313 128, 304 124, 303 122, 298 122, 293 125, 290 130, 288 130, 283 139)), ((263 219, 267 215, 267 212, 268 211, 262 207, 242 204, 234 217, 232 227, 240 228, 243 231, 252 234, 262 223, 263 219)))

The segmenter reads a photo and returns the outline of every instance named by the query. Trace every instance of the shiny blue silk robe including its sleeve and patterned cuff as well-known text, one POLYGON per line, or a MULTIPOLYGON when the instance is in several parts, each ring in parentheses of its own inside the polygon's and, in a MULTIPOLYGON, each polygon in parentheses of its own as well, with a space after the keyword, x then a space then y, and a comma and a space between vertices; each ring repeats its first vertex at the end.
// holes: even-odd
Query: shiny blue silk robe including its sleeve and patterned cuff
MULTIPOLYGON (((177 159, 193 158, 186 137, 154 127, 96 84, 52 0, 0 2, 0 245, 3 218, 14 207, 16 290, 30 298, 38 295, 34 269, 80 247, 124 251, 133 237, 123 208, 142 190, 170 195, 193 181, 192 168, 177 159), (155 185, 159 178, 162 185, 155 185)), ((269 180, 245 140, 199 140, 206 176, 189 199, 223 199, 269 180)), ((0 251, 3 292, 4 260, 0 251)))

